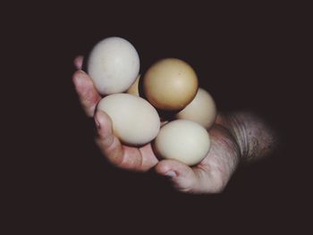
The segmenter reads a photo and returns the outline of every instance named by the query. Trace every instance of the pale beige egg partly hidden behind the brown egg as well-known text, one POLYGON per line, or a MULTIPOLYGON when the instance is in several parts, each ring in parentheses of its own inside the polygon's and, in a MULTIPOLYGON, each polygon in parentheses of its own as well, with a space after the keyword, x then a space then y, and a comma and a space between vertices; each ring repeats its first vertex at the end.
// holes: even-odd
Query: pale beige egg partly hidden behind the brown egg
POLYGON ((199 88, 196 97, 176 114, 176 118, 198 122, 204 128, 209 129, 216 121, 216 103, 205 89, 199 88))

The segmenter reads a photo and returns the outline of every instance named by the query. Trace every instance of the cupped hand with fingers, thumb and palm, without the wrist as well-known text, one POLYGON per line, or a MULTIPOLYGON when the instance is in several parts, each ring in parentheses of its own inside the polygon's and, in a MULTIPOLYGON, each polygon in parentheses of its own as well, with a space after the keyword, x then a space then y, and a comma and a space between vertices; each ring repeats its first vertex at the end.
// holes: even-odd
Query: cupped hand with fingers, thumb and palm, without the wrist
POLYGON ((97 126, 96 143, 109 162, 123 169, 140 172, 155 167, 157 173, 167 176, 172 180, 173 187, 182 192, 216 193, 224 189, 239 163, 240 151, 235 138, 221 125, 222 122, 216 122, 209 130, 211 148, 198 165, 190 167, 174 160, 159 161, 150 143, 143 147, 121 144, 113 134, 110 117, 102 111, 96 112, 101 96, 89 75, 80 70, 82 56, 77 57, 74 64, 79 71, 74 72, 72 80, 80 103, 87 115, 94 117, 97 126))

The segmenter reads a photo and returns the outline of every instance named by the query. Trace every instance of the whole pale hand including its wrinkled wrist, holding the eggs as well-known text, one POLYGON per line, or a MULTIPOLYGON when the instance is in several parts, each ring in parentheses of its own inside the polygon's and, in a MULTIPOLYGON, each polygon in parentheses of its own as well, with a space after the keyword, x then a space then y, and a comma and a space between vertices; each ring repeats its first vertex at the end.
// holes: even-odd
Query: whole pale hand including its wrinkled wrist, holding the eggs
POLYGON ((147 172, 150 169, 167 176, 178 191, 193 194, 222 192, 241 162, 251 162, 270 154, 276 145, 273 130, 252 113, 218 114, 208 130, 211 147, 202 162, 188 166, 174 160, 159 160, 151 144, 129 147, 121 144, 113 134, 110 117, 97 111, 101 96, 89 75, 81 71, 83 57, 74 60, 77 71, 72 76, 80 104, 97 127, 96 143, 106 159, 129 171, 147 172))

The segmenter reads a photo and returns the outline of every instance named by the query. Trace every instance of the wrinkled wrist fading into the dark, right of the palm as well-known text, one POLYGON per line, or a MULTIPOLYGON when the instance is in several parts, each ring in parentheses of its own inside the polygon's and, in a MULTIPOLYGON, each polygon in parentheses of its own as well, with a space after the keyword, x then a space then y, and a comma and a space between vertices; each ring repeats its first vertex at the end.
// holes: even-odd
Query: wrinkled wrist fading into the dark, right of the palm
POLYGON ((270 155, 277 146, 275 131, 253 113, 219 114, 216 123, 232 133, 243 162, 252 162, 270 155))

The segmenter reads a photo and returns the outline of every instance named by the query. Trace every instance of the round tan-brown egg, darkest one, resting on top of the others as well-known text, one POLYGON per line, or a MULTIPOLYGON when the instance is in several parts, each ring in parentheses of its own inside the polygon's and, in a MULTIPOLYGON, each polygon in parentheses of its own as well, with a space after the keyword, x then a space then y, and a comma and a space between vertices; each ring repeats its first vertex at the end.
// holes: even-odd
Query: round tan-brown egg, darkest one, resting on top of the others
POLYGON ((145 97, 160 110, 182 110, 190 104, 197 90, 196 72, 179 59, 158 61, 148 69, 143 79, 145 97))

